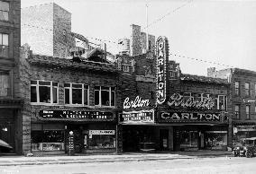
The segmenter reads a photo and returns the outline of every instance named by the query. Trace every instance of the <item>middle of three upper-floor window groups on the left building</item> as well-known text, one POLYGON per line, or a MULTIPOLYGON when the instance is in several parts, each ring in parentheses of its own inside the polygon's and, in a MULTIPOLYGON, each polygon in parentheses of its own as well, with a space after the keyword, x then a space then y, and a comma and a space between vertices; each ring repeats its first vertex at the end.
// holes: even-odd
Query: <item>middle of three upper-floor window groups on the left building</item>
POLYGON ((89 86, 81 83, 64 83, 65 104, 89 105, 89 86))

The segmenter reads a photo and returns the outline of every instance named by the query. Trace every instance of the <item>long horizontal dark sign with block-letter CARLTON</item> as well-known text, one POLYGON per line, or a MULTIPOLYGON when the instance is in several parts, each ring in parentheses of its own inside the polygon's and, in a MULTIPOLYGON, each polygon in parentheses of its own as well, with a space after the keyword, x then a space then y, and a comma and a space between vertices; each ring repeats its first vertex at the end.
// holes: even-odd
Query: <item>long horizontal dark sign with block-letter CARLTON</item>
POLYGON ((183 120, 183 121, 224 121, 224 117, 221 113, 199 113, 199 112, 160 112, 161 120, 183 120))

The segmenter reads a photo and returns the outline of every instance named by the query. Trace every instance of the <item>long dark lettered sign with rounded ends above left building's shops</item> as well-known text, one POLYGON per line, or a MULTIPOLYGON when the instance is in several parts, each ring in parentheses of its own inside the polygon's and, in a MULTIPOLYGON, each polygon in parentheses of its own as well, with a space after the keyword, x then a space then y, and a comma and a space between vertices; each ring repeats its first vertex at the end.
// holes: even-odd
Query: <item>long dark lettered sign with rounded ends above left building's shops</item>
POLYGON ((79 119, 113 119, 112 112, 104 111, 71 111, 71 110, 40 110, 40 117, 46 118, 79 118, 79 119))

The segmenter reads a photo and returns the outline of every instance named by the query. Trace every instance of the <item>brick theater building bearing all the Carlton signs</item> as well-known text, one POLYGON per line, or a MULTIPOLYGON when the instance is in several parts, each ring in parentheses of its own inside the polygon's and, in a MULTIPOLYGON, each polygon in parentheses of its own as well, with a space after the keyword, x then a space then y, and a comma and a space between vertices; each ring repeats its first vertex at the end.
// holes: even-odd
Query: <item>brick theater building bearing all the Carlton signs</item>
POLYGON ((156 43, 157 55, 152 58, 151 53, 117 57, 123 100, 118 148, 123 152, 226 150, 232 137, 230 83, 182 74, 179 65, 168 59, 168 39, 160 37, 156 43))

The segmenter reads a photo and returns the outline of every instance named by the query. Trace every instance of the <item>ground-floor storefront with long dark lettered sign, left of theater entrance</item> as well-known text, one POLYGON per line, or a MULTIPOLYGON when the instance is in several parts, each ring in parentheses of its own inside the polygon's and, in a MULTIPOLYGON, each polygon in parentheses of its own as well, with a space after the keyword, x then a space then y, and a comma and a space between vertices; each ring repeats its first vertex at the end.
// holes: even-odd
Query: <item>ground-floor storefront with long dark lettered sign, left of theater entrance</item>
POLYGON ((39 110, 40 121, 32 123, 32 153, 67 153, 69 133, 74 134, 76 153, 104 153, 116 150, 113 111, 39 110))

